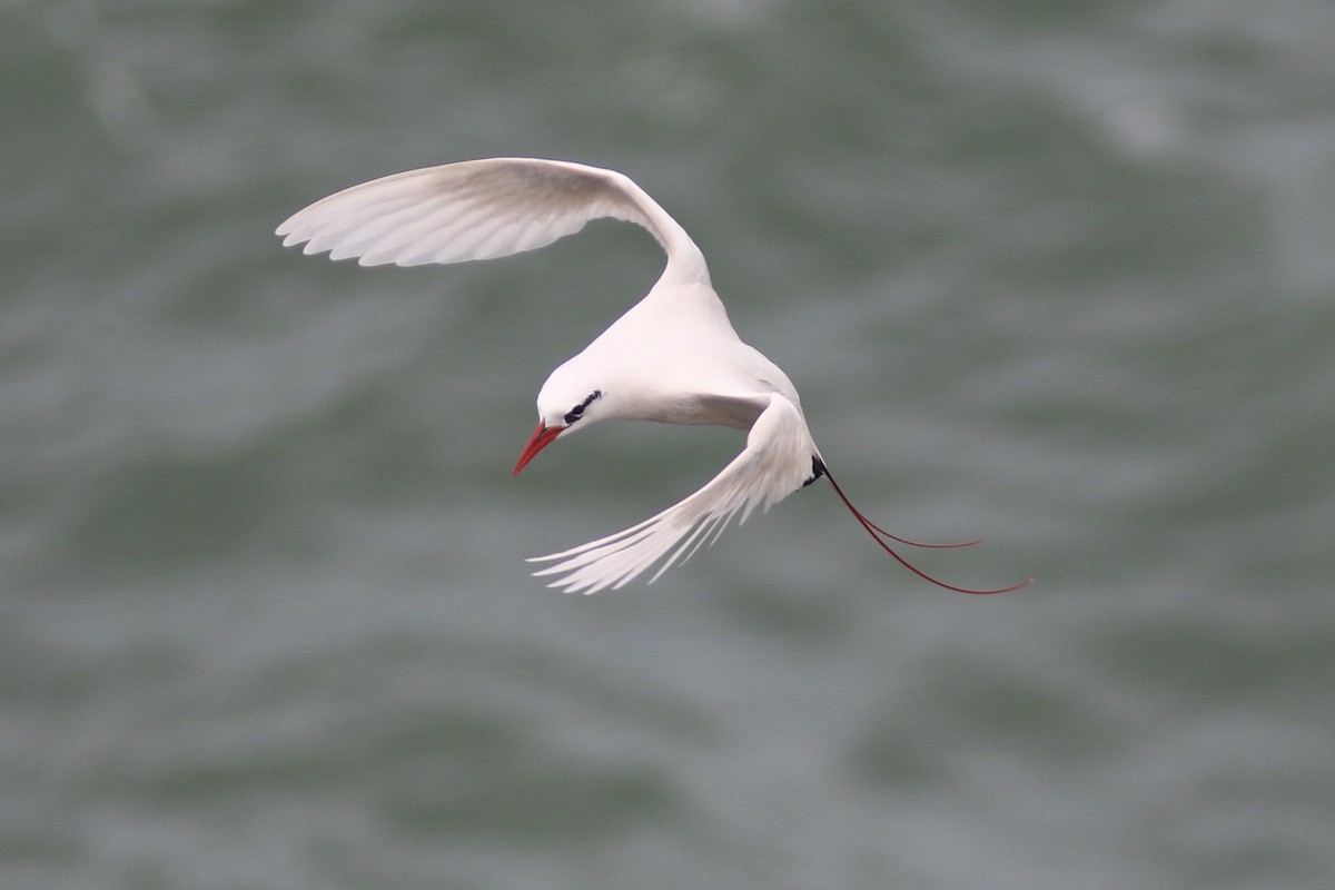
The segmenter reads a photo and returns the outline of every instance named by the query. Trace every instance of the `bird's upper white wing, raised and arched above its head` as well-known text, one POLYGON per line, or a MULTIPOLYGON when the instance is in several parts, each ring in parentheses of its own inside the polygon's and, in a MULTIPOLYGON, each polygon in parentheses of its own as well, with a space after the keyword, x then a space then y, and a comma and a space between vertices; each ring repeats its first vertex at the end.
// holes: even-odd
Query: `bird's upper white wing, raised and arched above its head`
POLYGON ((489 157, 395 173, 298 211, 276 234, 306 254, 362 266, 422 266, 507 256, 610 216, 643 226, 669 268, 704 268, 685 230, 629 177, 533 157, 489 157))

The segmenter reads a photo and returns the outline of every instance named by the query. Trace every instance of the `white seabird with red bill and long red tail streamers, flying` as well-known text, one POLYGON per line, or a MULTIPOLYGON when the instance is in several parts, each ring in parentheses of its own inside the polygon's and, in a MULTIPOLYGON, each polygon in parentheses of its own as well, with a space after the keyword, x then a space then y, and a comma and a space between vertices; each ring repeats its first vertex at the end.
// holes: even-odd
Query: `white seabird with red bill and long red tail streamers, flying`
POLYGON ((518 475, 538 452, 606 420, 722 426, 746 446, 694 494, 623 531, 529 562, 549 587, 593 594, 649 570, 657 580, 788 495, 826 479, 857 522, 890 556, 933 584, 964 594, 995 590, 945 583, 905 559, 897 538, 844 494, 821 456, 788 375, 742 342, 714 292, 700 247, 629 176, 566 160, 485 157, 411 169, 352 185, 298 211, 276 230, 284 247, 328 252, 360 266, 487 260, 545 247, 594 219, 635 223, 666 263, 649 292, 583 351, 559 364, 538 391, 538 426, 519 452, 518 475))

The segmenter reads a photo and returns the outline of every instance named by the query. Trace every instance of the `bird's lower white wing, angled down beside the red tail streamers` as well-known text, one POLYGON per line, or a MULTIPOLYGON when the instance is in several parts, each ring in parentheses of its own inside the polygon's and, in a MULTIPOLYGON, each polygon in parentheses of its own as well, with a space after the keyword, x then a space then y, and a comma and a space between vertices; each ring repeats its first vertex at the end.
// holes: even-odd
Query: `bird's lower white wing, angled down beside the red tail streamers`
POLYGON ((746 436, 746 447, 704 488, 657 516, 614 535, 529 562, 555 562, 534 575, 558 576, 547 584, 571 592, 594 594, 618 588, 662 564, 649 583, 677 563, 712 544, 733 516, 746 522, 756 507, 769 510, 812 476, 816 456, 806 422, 780 394, 769 396, 746 436))

